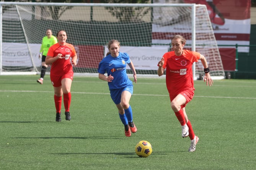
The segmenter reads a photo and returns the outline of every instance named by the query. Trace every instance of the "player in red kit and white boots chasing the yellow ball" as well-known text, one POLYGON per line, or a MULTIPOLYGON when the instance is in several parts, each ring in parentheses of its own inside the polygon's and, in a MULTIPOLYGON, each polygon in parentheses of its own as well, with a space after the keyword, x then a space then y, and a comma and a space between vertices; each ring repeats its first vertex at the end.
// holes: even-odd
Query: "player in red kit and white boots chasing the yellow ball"
POLYGON ((166 87, 171 100, 171 108, 181 123, 181 136, 183 138, 189 136, 191 139, 189 152, 194 152, 199 138, 194 134, 185 111, 186 104, 192 100, 195 90, 192 64, 201 60, 204 66, 206 85, 212 86, 213 80, 205 57, 198 52, 183 50, 185 44, 186 39, 183 36, 175 35, 171 39, 174 51, 166 52, 163 55, 163 58, 158 62, 157 73, 158 76, 162 76, 166 69, 166 87))

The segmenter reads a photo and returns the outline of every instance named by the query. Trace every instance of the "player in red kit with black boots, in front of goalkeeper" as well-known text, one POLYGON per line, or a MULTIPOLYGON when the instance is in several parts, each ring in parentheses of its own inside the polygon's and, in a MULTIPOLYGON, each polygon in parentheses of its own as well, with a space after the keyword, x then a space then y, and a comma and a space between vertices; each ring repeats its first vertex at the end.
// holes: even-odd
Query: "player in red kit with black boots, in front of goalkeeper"
POLYGON ((58 43, 52 45, 46 56, 46 64, 51 64, 50 78, 54 88, 54 102, 56 108, 56 121, 61 121, 62 95, 65 107, 65 118, 70 120, 69 107, 71 103, 71 84, 73 80, 73 67, 77 65, 77 53, 73 45, 68 44, 67 33, 60 30, 57 33, 58 43), (70 57, 72 58, 70 62, 70 57))

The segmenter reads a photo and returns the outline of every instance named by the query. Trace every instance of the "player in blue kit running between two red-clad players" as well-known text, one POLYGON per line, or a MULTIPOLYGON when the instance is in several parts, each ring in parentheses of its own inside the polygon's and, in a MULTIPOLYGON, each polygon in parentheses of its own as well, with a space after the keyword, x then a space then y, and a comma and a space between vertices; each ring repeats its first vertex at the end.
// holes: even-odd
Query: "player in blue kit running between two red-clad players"
POLYGON ((120 42, 110 40, 108 42, 108 50, 106 57, 99 63, 98 73, 99 79, 107 81, 110 96, 118 109, 119 117, 124 124, 124 132, 127 137, 131 136, 131 132, 137 131, 132 120, 132 108, 129 101, 133 93, 132 81, 126 73, 126 63, 130 67, 134 82, 137 83, 136 71, 132 61, 127 53, 119 52, 120 42), (108 76, 104 74, 107 73, 108 76))

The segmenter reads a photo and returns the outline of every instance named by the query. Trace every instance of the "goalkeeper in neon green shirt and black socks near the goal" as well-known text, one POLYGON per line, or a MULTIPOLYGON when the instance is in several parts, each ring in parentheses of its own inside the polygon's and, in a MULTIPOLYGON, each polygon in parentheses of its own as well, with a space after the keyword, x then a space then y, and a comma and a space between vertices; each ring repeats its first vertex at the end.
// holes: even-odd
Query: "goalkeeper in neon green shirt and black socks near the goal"
POLYGON ((39 59, 42 58, 42 69, 40 78, 37 80, 38 83, 43 84, 44 75, 47 69, 47 65, 45 63, 45 58, 49 48, 58 42, 57 38, 52 35, 52 30, 46 30, 46 36, 42 38, 42 45, 40 49, 39 59))

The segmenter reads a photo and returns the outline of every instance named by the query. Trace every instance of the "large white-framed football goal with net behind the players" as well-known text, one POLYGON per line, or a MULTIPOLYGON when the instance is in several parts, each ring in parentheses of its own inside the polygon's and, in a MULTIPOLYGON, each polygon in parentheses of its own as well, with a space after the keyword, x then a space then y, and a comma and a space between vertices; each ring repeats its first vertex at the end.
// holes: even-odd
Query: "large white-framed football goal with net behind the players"
MULTIPOLYGON (((95 75, 108 41, 117 39, 139 76, 158 77, 158 61, 172 50, 171 37, 181 34, 186 49, 206 57, 214 79, 225 77, 204 5, 0 2, 0 23, 0 75, 39 74, 41 40, 51 29, 54 36, 65 30, 67 42, 74 45, 75 75, 95 75)), ((196 63, 194 79, 203 74, 201 62, 196 63)))

